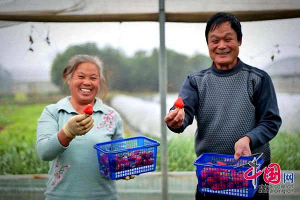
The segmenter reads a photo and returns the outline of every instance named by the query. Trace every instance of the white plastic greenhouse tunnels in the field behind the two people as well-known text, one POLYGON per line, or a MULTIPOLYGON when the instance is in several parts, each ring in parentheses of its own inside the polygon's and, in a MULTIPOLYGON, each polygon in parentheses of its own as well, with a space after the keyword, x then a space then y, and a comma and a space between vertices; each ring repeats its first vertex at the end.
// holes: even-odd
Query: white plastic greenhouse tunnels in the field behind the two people
MULTIPOLYGON (((168 109, 176 100, 176 94, 168 94, 166 107, 168 109)), ((294 133, 300 131, 300 94, 277 93, 277 101, 282 124, 280 132, 294 133)), ((159 95, 154 95, 152 100, 143 99, 129 95, 115 95, 111 99, 111 106, 115 108, 124 117, 135 130, 141 134, 150 134, 160 137, 160 104, 159 95), (126 105, 126 106, 124 106, 126 105)), ((189 125, 183 135, 193 135, 196 130, 196 121, 189 125)), ((173 135, 168 130, 168 137, 173 135)))

